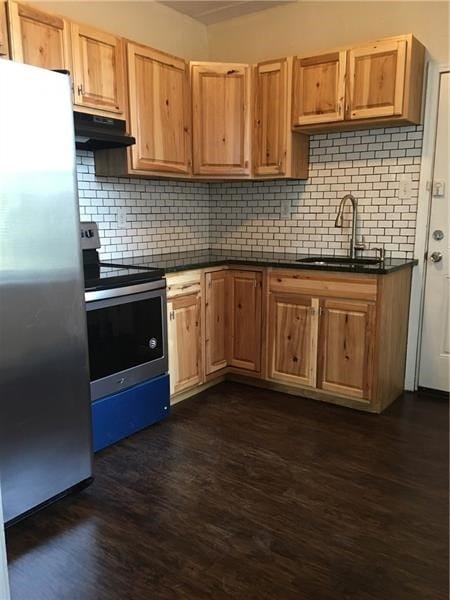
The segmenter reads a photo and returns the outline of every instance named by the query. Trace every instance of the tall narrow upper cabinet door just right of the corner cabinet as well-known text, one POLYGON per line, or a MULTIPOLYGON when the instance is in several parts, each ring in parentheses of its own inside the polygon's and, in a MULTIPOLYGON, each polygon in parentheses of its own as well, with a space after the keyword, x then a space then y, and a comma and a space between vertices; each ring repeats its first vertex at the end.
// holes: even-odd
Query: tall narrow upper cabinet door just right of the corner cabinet
POLYGON ((287 74, 287 59, 255 67, 255 175, 286 173, 287 74))

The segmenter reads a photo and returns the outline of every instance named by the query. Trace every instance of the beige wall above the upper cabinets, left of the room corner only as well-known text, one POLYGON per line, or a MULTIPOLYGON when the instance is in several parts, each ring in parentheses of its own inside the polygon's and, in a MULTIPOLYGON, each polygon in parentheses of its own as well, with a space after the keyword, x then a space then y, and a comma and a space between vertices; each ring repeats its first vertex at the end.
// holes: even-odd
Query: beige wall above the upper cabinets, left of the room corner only
POLYGON ((207 60, 206 27, 153 1, 33 2, 42 9, 188 59, 207 60))

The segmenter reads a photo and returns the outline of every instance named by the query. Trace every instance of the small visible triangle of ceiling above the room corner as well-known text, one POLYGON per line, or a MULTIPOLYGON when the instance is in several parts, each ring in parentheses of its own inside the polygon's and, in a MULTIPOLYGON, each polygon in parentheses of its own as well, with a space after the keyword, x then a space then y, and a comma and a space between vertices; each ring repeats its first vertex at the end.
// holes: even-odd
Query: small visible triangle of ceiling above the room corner
POLYGON ((204 23, 212 25, 234 17, 248 15, 249 13, 273 8, 280 4, 295 2, 296 0, 159 0, 185 15, 204 23))

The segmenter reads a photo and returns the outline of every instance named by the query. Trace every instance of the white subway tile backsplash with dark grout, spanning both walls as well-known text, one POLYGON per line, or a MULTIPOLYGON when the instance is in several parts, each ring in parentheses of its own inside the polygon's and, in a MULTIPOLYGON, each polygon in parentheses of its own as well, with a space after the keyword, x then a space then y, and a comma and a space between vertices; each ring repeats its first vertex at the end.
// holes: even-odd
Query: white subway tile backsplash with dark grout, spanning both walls
POLYGON ((358 199, 358 235, 392 256, 414 251, 422 127, 320 134, 310 140, 307 181, 178 182, 96 177, 90 152, 77 153, 80 216, 98 222, 103 259, 200 250, 347 252, 334 219, 340 198, 358 199), (411 197, 398 198, 399 177, 411 197), (280 217, 290 200, 290 218, 280 217), (120 228, 117 210, 127 209, 120 228))

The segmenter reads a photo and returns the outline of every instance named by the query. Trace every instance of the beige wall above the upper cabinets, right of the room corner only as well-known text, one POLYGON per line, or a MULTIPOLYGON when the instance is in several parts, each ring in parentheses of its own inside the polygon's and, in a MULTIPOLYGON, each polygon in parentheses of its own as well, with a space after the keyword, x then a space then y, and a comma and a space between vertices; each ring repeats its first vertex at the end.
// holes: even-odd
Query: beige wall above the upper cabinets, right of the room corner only
POLYGON ((413 33, 449 62, 448 2, 297 1, 208 27, 212 60, 255 62, 413 33))

